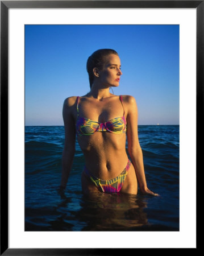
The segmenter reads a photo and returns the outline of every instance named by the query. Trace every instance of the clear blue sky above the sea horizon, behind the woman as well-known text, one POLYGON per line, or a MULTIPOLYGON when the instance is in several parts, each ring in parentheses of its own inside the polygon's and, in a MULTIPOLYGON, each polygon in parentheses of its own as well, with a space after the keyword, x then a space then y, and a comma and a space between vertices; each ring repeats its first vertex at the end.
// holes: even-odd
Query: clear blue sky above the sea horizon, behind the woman
POLYGON ((179 124, 178 25, 26 25, 26 125, 63 125, 63 102, 89 92, 86 61, 101 48, 119 53, 114 94, 135 97, 139 125, 179 124))

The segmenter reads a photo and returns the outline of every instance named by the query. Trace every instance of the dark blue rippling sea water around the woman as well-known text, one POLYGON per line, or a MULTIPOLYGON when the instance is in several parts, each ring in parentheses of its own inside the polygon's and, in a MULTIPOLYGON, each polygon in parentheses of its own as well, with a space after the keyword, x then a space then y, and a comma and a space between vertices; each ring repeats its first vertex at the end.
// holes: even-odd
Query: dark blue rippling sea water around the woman
POLYGON ((64 126, 25 127, 26 231, 179 231, 179 126, 138 127, 148 188, 159 197, 84 196, 76 141, 66 191, 58 191, 64 126))

